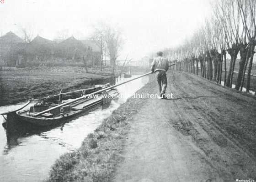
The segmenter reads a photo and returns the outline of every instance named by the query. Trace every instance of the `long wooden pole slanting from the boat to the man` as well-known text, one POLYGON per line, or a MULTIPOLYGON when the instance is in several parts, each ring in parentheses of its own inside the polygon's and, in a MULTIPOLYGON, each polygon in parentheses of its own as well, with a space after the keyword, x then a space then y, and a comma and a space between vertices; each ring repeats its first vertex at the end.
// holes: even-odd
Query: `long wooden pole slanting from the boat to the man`
MULTIPOLYGON (((175 65, 175 64, 172 64, 172 65, 170 65, 170 66, 173 66, 173 65, 175 65)), ((169 66, 169 67, 170 67, 170 66, 169 66)), ((101 90, 99 90, 99 91, 92 92, 91 94, 86 95, 86 97, 88 98, 88 97, 90 97, 90 96, 92 96, 92 95, 94 95, 94 94, 101 93, 102 91, 107 91, 107 90, 109 90, 109 89, 115 88, 115 87, 117 87, 117 86, 123 85, 123 84, 128 83, 128 82, 133 81, 133 80, 137 80, 137 79, 139 79, 139 78, 141 78, 141 77, 143 77, 143 76, 147 76, 147 75, 150 75, 150 74, 152 74, 152 72, 148 72, 148 73, 145 73, 144 75, 138 76, 138 77, 133 78, 133 79, 130 79, 130 80, 128 80, 128 81, 124 81, 123 83, 118 83, 118 84, 116 84, 116 85, 109 86, 109 87, 104 88, 104 89, 101 89, 101 90)), ((44 114, 44 113, 46 113, 46 112, 48 112, 48 111, 52 111, 53 109, 57 109, 57 108, 59 108, 59 107, 69 105, 69 104, 71 104, 71 103, 73 103, 73 102, 76 102, 76 101, 80 101, 80 100, 82 100, 82 99, 85 99, 86 97, 85 97, 85 96, 81 96, 81 97, 79 97, 79 98, 74 99, 73 101, 68 101, 68 102, 65 102, 65 103, 63 103, 63 104, 60 104, 60 105, 58 105, 58 106, 54 106, 54 107, 52 107, 52 108, 50 108, 50 109, 47 109, 47 110, 38 112, 38 113, 35 114, 34 116, 39 116, 39 115, 44 114)))

